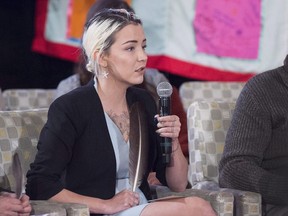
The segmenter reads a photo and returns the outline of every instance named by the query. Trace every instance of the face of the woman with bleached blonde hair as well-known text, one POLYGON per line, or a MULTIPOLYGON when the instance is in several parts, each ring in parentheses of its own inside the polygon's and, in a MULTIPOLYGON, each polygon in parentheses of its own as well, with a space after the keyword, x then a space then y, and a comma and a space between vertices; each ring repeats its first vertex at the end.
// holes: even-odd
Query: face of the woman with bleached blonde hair
POLYGON ((117 32, 115 42, 104 57, 109 79, 128 86, 142 83, 147 63, 145 48, 146 38, 141 25, 130 24, 117 32))

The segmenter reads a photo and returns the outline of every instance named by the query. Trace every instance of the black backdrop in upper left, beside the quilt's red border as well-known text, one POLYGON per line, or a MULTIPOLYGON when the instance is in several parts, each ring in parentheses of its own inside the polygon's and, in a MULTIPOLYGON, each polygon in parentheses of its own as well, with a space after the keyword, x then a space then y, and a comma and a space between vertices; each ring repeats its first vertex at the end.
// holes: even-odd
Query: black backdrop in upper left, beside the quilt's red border
MULTIPOLYGON (((41 1, 41 0, 40 0, 41 1)), ((56 88, 71 75, 73 62, 31 50, 36 0, 0 1, 0 86, 56 88)))

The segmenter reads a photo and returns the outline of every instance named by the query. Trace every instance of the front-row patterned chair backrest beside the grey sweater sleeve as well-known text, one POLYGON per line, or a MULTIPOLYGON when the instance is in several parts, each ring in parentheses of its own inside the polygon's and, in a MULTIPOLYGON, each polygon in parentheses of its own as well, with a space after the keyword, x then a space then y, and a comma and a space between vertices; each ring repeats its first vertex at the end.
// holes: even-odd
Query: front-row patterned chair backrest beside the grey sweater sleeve
POLYGON ((218 164, 236 102, 195 101, 187 111, 189 181, 218 183, 218 164))

